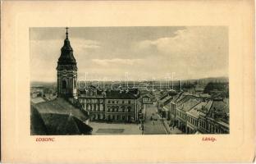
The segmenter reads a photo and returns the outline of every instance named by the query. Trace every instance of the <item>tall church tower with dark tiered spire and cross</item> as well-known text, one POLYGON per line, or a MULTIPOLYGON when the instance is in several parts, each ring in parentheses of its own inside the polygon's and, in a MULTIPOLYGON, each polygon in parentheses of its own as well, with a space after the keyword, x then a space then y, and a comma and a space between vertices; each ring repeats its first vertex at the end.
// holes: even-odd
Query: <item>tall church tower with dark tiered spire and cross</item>
POLYGON ((67 30, 66 27, 66 39, 57 62, 57 96, 77 98, 77 66, 67 30))

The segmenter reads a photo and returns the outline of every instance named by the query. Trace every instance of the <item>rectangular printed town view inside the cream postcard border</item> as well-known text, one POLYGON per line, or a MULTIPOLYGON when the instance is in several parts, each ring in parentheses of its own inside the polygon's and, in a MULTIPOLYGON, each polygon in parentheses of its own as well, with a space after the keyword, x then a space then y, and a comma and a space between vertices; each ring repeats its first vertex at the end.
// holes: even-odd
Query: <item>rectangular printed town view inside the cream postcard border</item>
POLYGON ((30 71, 31 134, 229 134, 226 26, 30 28, 30 71))

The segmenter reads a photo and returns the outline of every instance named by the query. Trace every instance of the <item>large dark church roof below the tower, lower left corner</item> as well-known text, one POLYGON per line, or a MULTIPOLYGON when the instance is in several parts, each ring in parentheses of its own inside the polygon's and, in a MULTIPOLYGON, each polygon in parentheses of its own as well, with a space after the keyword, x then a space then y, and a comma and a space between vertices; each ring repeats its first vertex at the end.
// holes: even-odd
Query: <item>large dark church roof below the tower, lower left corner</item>
POLYGON ((44 103, 31 103, 31 134, 90 134, 85 112, 63 98, 44 103))

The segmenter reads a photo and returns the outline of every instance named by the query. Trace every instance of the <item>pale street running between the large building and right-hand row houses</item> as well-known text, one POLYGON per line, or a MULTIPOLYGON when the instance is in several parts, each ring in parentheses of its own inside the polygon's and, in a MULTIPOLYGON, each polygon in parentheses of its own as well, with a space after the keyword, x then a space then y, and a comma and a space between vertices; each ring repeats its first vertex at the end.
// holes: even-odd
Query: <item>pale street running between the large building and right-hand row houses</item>
POLYGON ((167 130, 162 124, 161 118, 158 115, 157 107, 153 104, 144 104, 145 120, 144 120, 144 134, 167 134, 167 130), (151 116, 153 121, 151 121, 151 116))

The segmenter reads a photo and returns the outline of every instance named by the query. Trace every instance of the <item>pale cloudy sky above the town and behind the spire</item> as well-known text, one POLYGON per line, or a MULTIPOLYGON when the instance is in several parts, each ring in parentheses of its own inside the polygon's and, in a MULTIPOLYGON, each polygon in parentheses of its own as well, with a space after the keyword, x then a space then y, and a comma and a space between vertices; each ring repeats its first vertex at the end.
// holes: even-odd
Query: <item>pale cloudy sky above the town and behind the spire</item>
MULTIPOLYGON (((79 80, 228 77, 225 26, 70 27, 79 80)), ((57 80, 65 27, 30 28, 30 80, 57 80)))

